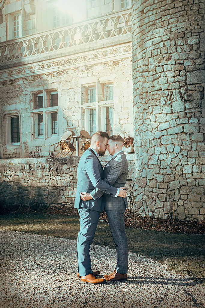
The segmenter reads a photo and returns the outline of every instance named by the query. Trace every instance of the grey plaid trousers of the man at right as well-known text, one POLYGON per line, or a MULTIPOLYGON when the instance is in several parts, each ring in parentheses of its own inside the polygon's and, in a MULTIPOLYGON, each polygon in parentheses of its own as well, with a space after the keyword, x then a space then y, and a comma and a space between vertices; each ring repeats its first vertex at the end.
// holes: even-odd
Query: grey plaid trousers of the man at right
POLYGON ((116 245, 116 271, 120 274, 128 272, 128 240, 124 228, 124 210, 106 210, 114 243, 116 245))

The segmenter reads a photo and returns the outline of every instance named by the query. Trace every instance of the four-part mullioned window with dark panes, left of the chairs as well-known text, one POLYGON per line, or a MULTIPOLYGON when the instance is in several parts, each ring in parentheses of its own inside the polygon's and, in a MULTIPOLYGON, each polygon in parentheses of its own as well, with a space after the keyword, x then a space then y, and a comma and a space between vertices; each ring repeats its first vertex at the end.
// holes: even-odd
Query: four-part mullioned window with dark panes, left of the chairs
POLYGON ((58 92, 42 91, 33 94, 34 138, 49 138, 58 134, 58 92), (40 110, 39 110, 40 109, 40 110))

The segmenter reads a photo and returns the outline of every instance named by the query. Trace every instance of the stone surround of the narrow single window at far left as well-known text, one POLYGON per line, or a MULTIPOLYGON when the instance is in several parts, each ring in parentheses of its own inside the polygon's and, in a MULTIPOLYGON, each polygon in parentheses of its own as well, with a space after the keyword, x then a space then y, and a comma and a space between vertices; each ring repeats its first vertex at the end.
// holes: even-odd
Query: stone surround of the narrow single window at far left
POLYGON ((6 145, 7 149, 20 148, 21 145, 21 114, 18 110, 4 111, 2 114, 2 144, 6 145), (19 142, 11 143, 11 118, 19 116, 19 142))

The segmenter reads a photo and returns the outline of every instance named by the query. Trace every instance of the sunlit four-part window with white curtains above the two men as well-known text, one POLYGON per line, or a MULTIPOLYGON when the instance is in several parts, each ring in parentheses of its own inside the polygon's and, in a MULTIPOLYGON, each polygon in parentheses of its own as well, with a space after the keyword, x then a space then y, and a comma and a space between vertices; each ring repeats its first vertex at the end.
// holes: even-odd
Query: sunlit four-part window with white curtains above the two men
POLYGON ((102 130, 113 134, 113 84, 82 87, 82 126, 92 136, 102 130), (96 93, 97 91, 97 93, 96 93))

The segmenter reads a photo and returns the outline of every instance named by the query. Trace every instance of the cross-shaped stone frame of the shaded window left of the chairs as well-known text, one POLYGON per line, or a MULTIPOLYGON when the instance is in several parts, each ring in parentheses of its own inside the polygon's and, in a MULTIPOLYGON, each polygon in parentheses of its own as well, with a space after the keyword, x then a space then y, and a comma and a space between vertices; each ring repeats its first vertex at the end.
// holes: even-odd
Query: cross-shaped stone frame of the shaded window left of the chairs
MULTIPOLYGON (((45 140, 48 138, 59 136, 59 132, 57 134, 51 134, 51 113, 58 112, 58 106, 49 106, 50 105, 50 93, 57 92, 57 89, 39 89, 38 91, 31 92, 32 95, 32 110, 31 110, 31 140, 37 142, 38 140, 45 140), (43 108, 34 109, 34 95, 43 93, 43 108), (43 135, 38 136, 38 114, 43 114, 43 135)), ((59 127, 57 125, 57 127, 59 127)))

